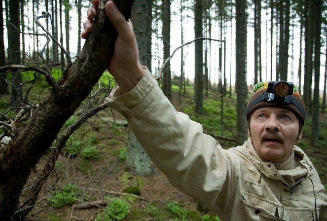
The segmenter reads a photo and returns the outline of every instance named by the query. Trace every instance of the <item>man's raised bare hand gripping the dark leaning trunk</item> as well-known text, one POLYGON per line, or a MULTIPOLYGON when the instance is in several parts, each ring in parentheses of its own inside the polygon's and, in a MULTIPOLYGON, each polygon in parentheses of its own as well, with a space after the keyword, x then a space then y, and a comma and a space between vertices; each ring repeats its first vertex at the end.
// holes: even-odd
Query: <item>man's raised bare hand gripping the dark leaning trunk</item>
MULTIPOLYGON (((87 38, 93 28, 93 20, 97 16, 100 0, 93 0, 92 8, 87 11, 87 20, 84 22, 82 38, 87 38)), ((106 2, 106 14, 117 30, 118 36, 114 46, 114 54, 107 69, 115 78, 123 93, 135 87, 144 75, 144 70, 139 62, 139 51, 136 37, 133 32, 132 22, 125 20, 112 0, 106 2)))

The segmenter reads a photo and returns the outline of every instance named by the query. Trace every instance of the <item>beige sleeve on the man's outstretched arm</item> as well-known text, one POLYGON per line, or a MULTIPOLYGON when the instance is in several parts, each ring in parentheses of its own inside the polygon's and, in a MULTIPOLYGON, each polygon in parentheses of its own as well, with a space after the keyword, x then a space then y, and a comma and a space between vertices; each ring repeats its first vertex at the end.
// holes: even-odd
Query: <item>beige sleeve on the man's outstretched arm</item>
POLYGON ((172 185, 211 210, 224 210, 218 207, 230 205, 234 198, 233 154, 204 134, 201 124, 176 111, 144 69, 145 76, 132 91, 121 95, 115 87, 106 103, 127 118, 142 147, 172 185))

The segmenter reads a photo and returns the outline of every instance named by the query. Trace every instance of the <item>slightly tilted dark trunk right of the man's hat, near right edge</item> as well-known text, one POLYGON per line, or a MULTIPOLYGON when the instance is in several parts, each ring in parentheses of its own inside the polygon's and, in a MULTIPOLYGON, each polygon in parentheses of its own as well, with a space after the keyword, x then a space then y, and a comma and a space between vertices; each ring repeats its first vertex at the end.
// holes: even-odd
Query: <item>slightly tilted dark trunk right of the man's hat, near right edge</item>
POLYGON ((315 87, 313 91, 313 105, 312 105, 312 124, 311 124, 311 140, 310 143, 314 147, 318 147, 319 139, 319 82, 320 82, 320 33, 321 33, 321 17, 322 17, 322 0, 314 0, 314 72, 315 72, 315 87))

